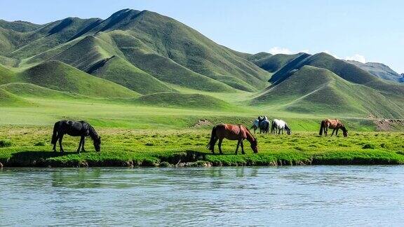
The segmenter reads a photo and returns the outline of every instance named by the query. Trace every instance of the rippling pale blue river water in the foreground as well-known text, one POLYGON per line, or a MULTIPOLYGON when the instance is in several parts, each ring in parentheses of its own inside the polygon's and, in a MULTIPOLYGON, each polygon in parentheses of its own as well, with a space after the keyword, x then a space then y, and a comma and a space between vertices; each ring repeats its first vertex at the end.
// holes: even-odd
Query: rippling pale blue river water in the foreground
POLYGON ((0 226, 401 226, 404 166, 5 168, 0 226))

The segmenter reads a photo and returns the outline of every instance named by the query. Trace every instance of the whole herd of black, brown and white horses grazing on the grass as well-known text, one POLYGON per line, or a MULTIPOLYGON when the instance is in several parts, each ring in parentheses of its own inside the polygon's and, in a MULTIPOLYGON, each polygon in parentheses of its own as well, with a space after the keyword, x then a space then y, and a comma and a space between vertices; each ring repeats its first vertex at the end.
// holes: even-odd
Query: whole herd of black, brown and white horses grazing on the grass
MULTIPOLYGON (((269 133, 269 125, 271 126, 271 133, 278 135, 283 134, 283 130, 286 131, 287 135, 291 135, 292 132, 288 123, 282 120, 274 119, 271 123, 267 116, 258 116, 258 118, 253 122, 251 128, 254 129, 254 134, 257 129, 260 129, 260 133, 269 133)), ((250 128, 250 129, 251 129, 250 128)), ((348 130, 346 130, 344 124, 338 119, 324 119, 321 121, 319 135, 327 136, 328 128, 332 129, 332 135, 338 134, 338 130, 342 130, 342 135, 344 137, 348 136, 348 130)), ((84 149, 84 144, 86 142, 86 137, 90 137, 93 140, 93 145, 95 151, 101 151, 101 137, 97 134, 93 126, 91 126, 86 121, 58 121, 53 126, 52 144, 53 151, 56 151, 56 144, 59 142, 60 152, 64 152, 62 146, 62 140, 64 135, 70 135, 72 137, 81 137, 79 142, 79 148, 77 153, 80 151, 86 151, 84 149)), ((206 146, 212 153, 215 153, 215 144, 217 144, 219 153, 222 154, 222 142, 223 139, 237 140, 236 154, 238 153, 238 147, 241 146, 241 153, 244 152, 243 141, 246 139, 250 142, 250 147, 254 153, 258 153, 258 142, 250 132, 248 128, 244 125, 231 125, 231 124, 219 124, 212 128, 212 133, 210 135, 210 141, 206 146)))

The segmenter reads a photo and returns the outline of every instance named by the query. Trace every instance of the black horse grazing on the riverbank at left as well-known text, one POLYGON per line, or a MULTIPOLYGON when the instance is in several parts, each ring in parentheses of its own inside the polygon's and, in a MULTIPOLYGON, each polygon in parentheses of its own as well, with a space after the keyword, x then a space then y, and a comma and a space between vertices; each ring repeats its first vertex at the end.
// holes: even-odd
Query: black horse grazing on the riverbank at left
POLYGON ((80 147, 81 151, 86 151, 84 150, 84 142, 86 141, 86 137, 88 136, 93 139, 95 151, 100 151, 101 149, 101 137, 97 135, 97 132, 95 132, 93 126, 91 126, 89 123, 86 123, 86 121, 63 120, 58 121, 57 123, 55 123, 55 126, 53 126, 53 151, 56 151, 56 142, 58 142, 59 140, 60 152, 64 152, 62 147, 62 139, 65 134, 71 135, 72 137, 81 137, 79 148, 77 149, 78 153, 80 153, 80 147))

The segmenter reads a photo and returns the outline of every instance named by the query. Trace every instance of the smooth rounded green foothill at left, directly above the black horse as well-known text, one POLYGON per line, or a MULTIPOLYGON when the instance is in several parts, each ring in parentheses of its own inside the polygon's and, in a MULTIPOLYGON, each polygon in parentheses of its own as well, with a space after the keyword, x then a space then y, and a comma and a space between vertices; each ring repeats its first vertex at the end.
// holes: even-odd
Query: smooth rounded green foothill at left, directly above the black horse
MULTIPOLYGON (((0 81, 6 84, 10 81, 0 81)), ((33 83, 44 88, 90 97, 137 97, 138 94, 62 62, 45 62, 12 76, 11 82, 33 83)))

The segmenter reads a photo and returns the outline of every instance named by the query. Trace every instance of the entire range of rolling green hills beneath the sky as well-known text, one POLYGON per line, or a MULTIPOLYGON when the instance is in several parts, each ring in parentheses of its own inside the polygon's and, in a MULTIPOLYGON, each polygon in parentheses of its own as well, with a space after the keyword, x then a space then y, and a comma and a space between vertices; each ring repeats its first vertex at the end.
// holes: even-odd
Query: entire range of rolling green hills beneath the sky
POLYGON ((45 25, 0 20, 0 103, 8 106, 33 97, 102 98, 235 114, 248 106, 404 118, 401 80, 385 64, 327 53, 240 53, 151 11, 45 25))

